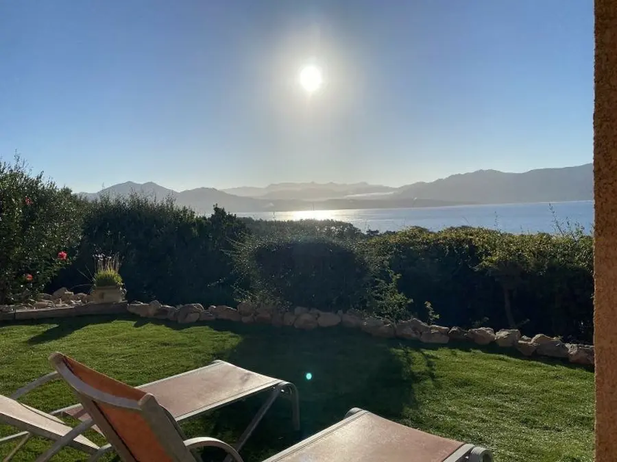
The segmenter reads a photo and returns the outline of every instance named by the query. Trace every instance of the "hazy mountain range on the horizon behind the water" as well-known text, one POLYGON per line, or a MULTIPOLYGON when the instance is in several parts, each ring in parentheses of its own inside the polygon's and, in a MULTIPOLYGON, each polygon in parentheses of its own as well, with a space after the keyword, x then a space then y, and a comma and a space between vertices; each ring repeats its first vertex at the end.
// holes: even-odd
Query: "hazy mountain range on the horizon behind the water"
POLYGON ((124 196, 130 192, 158 199, 171 196, 178 205, 200 214, 209 213, 214 204, 232 212, 257 212, 588 201, 593 198, 593 166, 541 168, 524 173, 477 170, 400 188, 369 183, 276 183, 265 188, 195 188, 177 192, 152 182, 128 181, 81 194, 95 199, 101 194, 124 196))

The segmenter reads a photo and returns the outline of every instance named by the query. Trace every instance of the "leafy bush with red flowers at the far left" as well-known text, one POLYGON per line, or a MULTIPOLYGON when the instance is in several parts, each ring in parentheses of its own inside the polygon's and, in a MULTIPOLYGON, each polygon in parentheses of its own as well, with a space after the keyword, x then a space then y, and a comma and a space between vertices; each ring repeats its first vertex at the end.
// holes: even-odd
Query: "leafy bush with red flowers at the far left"
POLYGON ((71 262, 82 201, 18 159, 0 161, 0 304, 43 290, 71 262))

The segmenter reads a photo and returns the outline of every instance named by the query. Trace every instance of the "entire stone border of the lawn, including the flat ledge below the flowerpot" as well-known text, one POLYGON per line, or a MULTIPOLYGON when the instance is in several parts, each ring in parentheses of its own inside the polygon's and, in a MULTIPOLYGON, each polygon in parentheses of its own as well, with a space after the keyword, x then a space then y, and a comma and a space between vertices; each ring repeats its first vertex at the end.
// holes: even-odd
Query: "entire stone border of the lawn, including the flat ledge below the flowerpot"
POLYGON ((428 325, 415 318, 395 323, 365 316, 361 311, 354 309, 344 313, 343 311, 331 313, 315 308, 295 307, 293 311, 287 311, 268 305, 254 305, 250 302, 242 302, 237 308, 212 305, 207 309, 199 303, 172 307, 162 305, 158 300, 150 303, 125 301, 92 303, 88 301, 86 294, 73 294, 64 287, 51 295, 41 294, 38 299, 38 301, 30 300, 29 305, 3 307, 0 310, 0 321, 134 313, 142 318, 169 320, 180 324, 227 320, 244 324, 293 326, 295 329, 305 331, 342 324, 348 329, 359 329, 373 337, 418 340, 425 344, 448 344, 450 341, 470 342, 477 345, 495 343, 501 348, 515 348, 527 357, 568 359, 570 363, 581 365, 594 365, 595 361, 594 346, 566 344, 558 338, 544 334, 529 338, 521 335, 517 329, 502 329, 495 332, 490 327, 479 327, 465 330, 461 327, 428 325))

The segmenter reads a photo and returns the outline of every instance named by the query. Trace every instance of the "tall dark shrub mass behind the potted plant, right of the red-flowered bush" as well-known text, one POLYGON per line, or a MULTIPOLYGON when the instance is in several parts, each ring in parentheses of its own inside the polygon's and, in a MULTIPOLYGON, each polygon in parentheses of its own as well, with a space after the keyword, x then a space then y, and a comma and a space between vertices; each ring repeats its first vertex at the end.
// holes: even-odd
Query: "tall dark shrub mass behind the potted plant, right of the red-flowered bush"
POLYGON ((219 207, 206 218, 171 198, 103 197, 88 205, 82 257, 53 287, 89 285, 87 275, 95 271, 92 256, 119 255, 129 299, 232 303, 235 279, 227 252, 243 229, 219 207))

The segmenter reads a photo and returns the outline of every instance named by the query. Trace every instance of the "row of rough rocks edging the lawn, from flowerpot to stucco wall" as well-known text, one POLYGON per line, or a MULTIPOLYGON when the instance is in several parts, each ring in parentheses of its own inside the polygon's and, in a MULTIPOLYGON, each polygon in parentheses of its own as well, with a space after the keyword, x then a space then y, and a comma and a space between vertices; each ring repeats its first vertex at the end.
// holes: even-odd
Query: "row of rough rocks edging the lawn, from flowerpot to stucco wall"
POLYGON ((497 344, 501 348, 516 348, 522 355, 531 357, 549 357, 568 359, 570 363, 594 365, 594 346, 583 344, 566 344, 558 338, 544 334, 525 337, 518 329, 502 329, 495 332, 490 327, 461 329, 428 325, 421 320, 411 318, 400 322, 391 322, 380 318, 364 316, 361 311, 350 309, 331 313, 315 308, 295 307, 286 311, 267 305, 254 305, 242 302, 237 308, 226 305, 212 305, 207 309, 199 303, 189 303, 172 307, 162 305, 158 300, 151 303, 130 303, 130 313, 143 318, 170 320, 180 324, 197 321, 228 320, 244 324, 271 324, 272 326, 293 326, 296 329, 310 331, 316 328, 328 328, 342 324, 349 329, 359 329, 374 337, 400 338, 418 340, 426 344, 448 344, 470 342, 478 345, 497 344))

